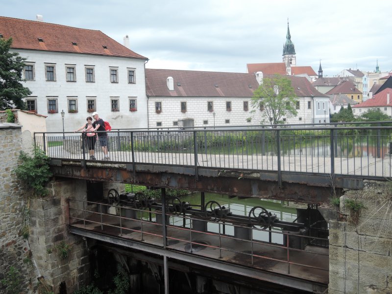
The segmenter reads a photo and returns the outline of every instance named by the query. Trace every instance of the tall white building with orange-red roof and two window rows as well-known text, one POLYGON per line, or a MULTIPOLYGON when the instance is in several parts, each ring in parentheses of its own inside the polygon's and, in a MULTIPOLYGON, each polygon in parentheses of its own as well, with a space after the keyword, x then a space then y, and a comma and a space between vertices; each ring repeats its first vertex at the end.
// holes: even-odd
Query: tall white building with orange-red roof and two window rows
POLYGON ((0 17, 0 31, 26 59, 27 110, 48 116, 48 132, 63 130, 63 111, 66 132, 94 111, 112 128, 147 127, 146 57, 97 30, 0 17))

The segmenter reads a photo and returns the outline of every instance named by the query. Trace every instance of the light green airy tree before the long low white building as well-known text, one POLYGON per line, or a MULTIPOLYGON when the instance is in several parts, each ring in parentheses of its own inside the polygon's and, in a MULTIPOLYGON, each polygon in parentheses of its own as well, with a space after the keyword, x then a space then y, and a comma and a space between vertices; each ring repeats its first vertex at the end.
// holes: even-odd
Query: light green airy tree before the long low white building
POLYGON ((267 123, 279 124, 283 123, 284 117, 293 117, 297 114, 296 103, 291 80, 273 75, 263 78, 263 83, 254 91, 251 101, 252 113, 260 109, 267 123))

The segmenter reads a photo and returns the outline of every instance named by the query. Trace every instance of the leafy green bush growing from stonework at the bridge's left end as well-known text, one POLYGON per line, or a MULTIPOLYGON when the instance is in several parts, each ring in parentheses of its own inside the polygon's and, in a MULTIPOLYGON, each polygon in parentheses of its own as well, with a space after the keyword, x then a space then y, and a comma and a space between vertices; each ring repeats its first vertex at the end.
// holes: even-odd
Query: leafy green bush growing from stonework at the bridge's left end
POLYGON ((32 156, 21 151, 19 159, 22 164, 14 171, 18 179, 32 189, 36 196, 47 196, 49 191, 45 185, 52 176, 48 156, 39 147, 34 147, 32 156))

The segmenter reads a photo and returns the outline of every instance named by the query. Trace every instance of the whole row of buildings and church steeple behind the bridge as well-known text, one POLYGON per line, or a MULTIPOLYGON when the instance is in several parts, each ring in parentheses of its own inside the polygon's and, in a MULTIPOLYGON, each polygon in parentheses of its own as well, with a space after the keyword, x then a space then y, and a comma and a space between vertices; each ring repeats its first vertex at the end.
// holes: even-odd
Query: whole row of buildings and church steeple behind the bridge
POLYGON ((45 115, 49 132, 73 131, 97 112, 113 128, 213 127, 254 125, 263 107, 251 108, 254 91, 271 75, 291 80, 295 117, 283 123, 329 123, 350 105, 354 115, 380 109, 392 117, 392 72, 343 69, 324 77, 299 66, 287 24, 282 60, 249 63, 247 73, 146 69, 148 58, 98 30, 0 17, 0 37, 13 39, 12 51, 26 59, 24 85, 32 94, 27 110, 45 115), (59 119, 60 118, 60 119, 59 119))

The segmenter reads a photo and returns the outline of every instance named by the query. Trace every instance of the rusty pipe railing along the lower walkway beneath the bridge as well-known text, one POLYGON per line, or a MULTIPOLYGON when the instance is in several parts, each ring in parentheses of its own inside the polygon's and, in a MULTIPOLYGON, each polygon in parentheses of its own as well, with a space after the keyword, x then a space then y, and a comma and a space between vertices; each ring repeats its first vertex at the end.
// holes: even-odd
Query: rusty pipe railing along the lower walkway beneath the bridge
POLYGON ((73 227, 245 266, 273 268, 283 274, 295 275, 298 267, 315 270, 317 275, 328 271, 327 251, 315 254, 309 248, 305 250, 311 241, 327 243, 326 238, 299 231, 271 231, 262 225, 227 223, 224 219, 195 218, 186 212, 172 214, 73 198, 68 201, 69 224, 73 227), (322 255, 324 262, 320 262, 322 255), (296 270, 291 272, 293 267, 296 270))

